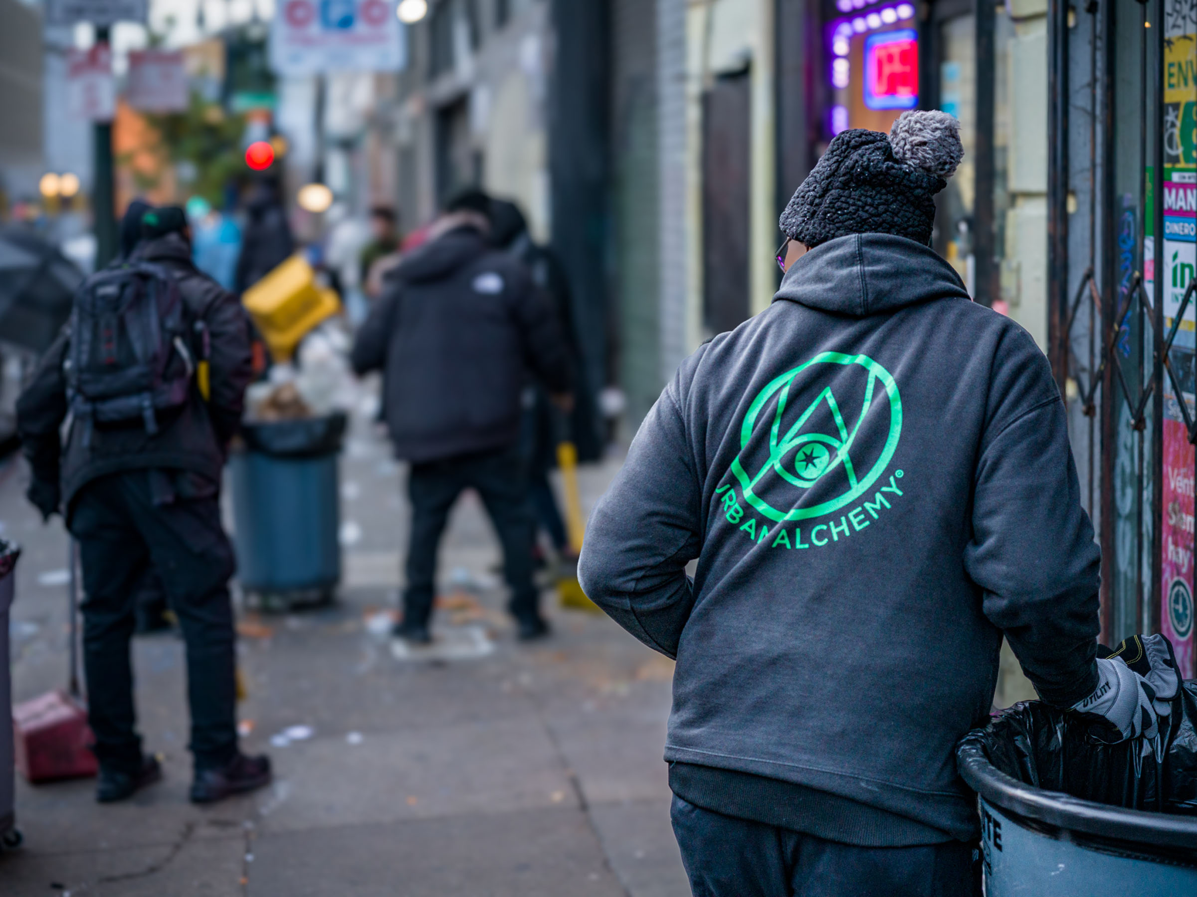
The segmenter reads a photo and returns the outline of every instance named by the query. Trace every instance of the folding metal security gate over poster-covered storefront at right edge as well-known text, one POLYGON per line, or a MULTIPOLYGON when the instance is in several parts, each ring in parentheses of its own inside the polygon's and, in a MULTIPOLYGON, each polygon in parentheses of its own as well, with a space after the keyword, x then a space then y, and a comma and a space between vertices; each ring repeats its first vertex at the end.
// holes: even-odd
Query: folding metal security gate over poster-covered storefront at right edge
POLYGON ((1197 0, 1049 7, 1049 342, 1107 643, 1193 676, 1197 0))

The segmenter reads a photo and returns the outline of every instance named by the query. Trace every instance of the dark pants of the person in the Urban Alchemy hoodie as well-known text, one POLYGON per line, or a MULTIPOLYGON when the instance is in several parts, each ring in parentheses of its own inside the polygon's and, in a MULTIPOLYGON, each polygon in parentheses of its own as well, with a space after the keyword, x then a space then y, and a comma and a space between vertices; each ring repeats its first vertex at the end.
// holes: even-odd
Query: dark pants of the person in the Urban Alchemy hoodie
POLYGON ((673 799, 694 897, 979 897, 974 844, 853 847, 673 799))

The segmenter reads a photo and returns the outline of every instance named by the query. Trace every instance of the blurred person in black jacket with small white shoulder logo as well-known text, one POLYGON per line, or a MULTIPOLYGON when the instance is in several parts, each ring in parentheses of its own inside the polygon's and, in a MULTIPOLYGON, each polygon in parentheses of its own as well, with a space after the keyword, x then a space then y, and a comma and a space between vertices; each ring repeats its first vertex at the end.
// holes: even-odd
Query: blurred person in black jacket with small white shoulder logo
POLYGON ((533 585, 533 523, 521 460, 525 365, 561 401, 569 353, 522 264, 487 243, 490 200, 468 191, 387 279, 358 331, 353 367, 383 372, 383 416, 411 462, 412 537, 396 635, 430 641, 436 559, 449 509, 474 488, 503 545, 521 639, 547 634, 533 585))

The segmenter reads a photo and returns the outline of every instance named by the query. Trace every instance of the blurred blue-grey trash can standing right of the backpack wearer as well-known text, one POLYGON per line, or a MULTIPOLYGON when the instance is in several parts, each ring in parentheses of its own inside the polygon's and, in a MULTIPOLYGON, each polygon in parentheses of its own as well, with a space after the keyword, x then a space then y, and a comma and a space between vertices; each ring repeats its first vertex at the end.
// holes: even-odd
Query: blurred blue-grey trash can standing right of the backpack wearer
POLYGON ((251 603, 285 610, 333 598, 345 428, 344 414, 243 426, 245 446, 231 459, 233 542, 251 603))

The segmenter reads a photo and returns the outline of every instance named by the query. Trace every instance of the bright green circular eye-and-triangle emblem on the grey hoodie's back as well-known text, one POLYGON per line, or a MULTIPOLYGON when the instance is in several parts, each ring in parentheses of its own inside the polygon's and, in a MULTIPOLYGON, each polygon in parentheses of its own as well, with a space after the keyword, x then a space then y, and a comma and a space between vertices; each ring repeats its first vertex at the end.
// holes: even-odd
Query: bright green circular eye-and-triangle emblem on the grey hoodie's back
MULTIPOLYGON (((844 393, 841 392, 841 395, 844 393)), ((880 416, 874 414, 874 419, 880 420, 880 416)), ((764 517, 777 523, 808 520, 830 514, 856 501, 868 492, 889 465, 900 437, 901 396, 898 392, 898 384, 894 383, 889 372, 868 355, 824 352, 792 371, 786 371, 780 377, 774 378, 757 395, 740 427, 740 454, 731 462, 731 472, 740 481, 745 501, 764 517), (794 397, 801 395, 812 376, 818 378, 824 373, 830 373, 831 371, 826 367, 828 365, 847 368, 859 367, 868 374, 864 384, 864 399, 855 422, 844 419, 844 408, 828 385, 819 391, 810 404, 798 413, 797 420, 783 432, 783 421, 794 416, 794 409, 791 409, 794 397), (875 403, 880 405, 888 403, 889 432, 875 459, 862 458, 863 452, 858 450, 857 437, 875 403), (770 420, 768 414, 765 414, 771 405, 774 408, 772 420, 770 420), (768 457, 762 459, 755 472, 749 474, 745 469, 746 464, 752 463, 748 459, 762 456, 760 448, 753 443, 754 434, 759 432, 758 425, 768 426, 768 457), (831 432, 824 432, 825 429, 831 432), (855 460, 853 450, 857 450, 855 460), (861 466, 865 469, 862 470, 861 466), (801 490, 809 489, 815 483, 826 481, 837 471, 841 471, 843 475, 838 477, 838 482, 843 489, 816 505, 778 508, 761 494, 765 492, 762 481, 771 471, 801 490)), ((876 443, 875 439, 869 441, 876 443)), ((875 450, 869 451, 868 454, 871 456, 874 452, 875 450)), ((899 472, 898 476, 901 474, 899 472)), ((768 494, 771 501, 776 504, 776 489, 770 489, 768 494)), ((795 498, 801 498, 801 495, 795 498)))

